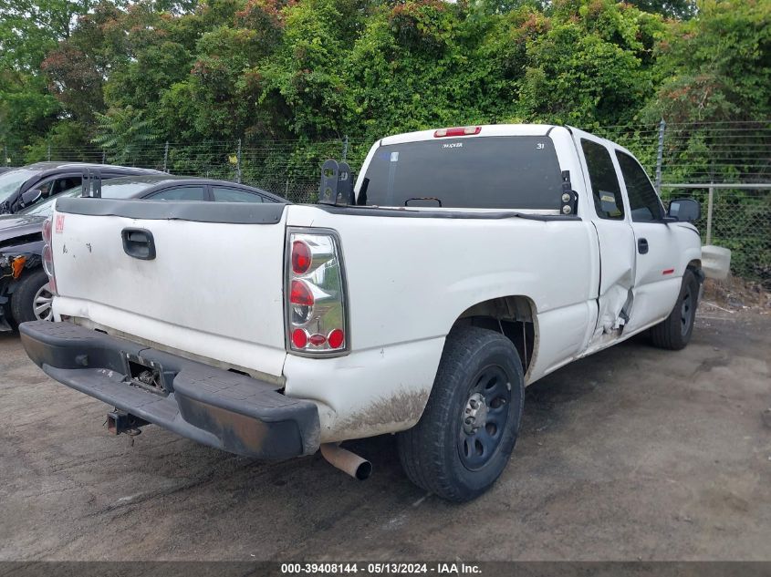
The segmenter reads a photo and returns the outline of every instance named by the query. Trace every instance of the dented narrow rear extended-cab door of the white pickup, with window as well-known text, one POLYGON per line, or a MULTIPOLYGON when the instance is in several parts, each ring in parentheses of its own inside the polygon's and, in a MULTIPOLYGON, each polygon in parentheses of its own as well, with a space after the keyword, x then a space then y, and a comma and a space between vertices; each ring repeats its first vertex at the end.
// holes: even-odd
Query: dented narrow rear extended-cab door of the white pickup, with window
POLYGON ((598 320, 587 353, 620 337, 628 322, 634 286, 634 233, 611 150, 605 141, 576 131, 593 206, 584 212, 599 240, 598 320))

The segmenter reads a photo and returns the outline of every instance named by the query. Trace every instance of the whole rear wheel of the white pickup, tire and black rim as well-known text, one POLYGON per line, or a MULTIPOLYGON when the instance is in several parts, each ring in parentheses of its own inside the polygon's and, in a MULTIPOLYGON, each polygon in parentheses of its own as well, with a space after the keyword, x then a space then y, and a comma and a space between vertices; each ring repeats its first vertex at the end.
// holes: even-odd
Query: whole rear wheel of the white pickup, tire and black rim
POLYGON ((514 449, 524 397, 522 363, 509 339, 474 326, 453 329, 421 420, 397 436, 407 477, 446 500, 484 493, 514 449))

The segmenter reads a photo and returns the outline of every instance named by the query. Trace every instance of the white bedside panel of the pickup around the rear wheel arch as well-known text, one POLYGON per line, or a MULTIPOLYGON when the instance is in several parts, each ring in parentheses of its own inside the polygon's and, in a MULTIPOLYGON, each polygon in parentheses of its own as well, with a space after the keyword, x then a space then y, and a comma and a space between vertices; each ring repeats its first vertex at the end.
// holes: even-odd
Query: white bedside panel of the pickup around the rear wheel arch
POLYGON ((349 355, 287 355, 287 395, 315 399, 322 439, 410 428, 431 392, 445 336, 470 306, 509 295, 537 313, 535 381, 577 357, 594 328, 597 238, 588 223, 350 216, 291 206, 287 225, 339 232, 349 355))

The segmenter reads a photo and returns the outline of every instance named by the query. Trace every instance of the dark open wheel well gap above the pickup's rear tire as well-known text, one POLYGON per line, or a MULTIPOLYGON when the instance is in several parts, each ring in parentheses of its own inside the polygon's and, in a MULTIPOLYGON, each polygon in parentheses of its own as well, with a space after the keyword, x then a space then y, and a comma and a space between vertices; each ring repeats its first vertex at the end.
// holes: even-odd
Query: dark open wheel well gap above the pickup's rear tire
POLYGON ((501 296, 468 307, 453 326, 472 325, 505 335, 514 345, 527 373, 537 355, 536 306, 526 296, 501 296))

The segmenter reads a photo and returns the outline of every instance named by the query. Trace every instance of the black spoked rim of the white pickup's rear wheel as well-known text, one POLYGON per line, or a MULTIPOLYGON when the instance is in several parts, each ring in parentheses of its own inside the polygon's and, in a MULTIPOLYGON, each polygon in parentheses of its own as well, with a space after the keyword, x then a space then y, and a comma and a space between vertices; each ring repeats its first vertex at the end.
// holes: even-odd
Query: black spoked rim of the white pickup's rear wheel
POLYGON ((482 469, 501 445, 511 404, 511 379, 501 366, 486 366, 471 381, 461 412, 458 454, 464 467, 482 469))

